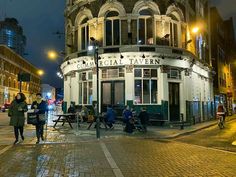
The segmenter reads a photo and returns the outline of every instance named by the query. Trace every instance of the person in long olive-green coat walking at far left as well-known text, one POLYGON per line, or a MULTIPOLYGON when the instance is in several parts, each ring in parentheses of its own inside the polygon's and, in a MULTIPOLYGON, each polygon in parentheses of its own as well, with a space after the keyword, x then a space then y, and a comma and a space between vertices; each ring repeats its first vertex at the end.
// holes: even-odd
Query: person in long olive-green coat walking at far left
POLYGON ((25 125, 25 114, 28 111, 26 98, 23 93, 17 93, 15 99, 12 101, 11 106, 8 110, 8 116, 10 118, 10 125, 14 126, 15 142, 19 141, 19 132, 21 139, 24 141, 24 125, 25 125))

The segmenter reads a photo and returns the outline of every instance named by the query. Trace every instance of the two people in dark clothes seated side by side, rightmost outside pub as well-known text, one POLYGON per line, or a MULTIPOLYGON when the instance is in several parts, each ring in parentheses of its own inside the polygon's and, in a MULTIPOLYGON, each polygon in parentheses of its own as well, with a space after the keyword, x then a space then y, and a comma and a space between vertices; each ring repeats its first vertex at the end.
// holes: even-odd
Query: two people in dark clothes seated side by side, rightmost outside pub
POLYGON ((126 106, 123 111, 123 122, 125 123, 124 131, 127 133, 132 133, 134 129, 138 128, 140 131, 147 132, 147 125, 149 121, 149 115, 145 107, 141 108, 141 112, 138 115, 138 123, 135 126, 135 112, 126 106))

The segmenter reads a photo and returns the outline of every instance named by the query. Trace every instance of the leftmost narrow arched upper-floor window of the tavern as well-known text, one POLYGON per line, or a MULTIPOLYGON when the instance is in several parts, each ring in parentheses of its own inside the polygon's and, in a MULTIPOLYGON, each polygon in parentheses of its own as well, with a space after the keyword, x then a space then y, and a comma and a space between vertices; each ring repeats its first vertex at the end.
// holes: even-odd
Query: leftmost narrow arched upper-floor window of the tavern
POLYGON ((80 23, 80 46, 81 50, 86 50, 89 45, 89 25, 88 18, 80 23))

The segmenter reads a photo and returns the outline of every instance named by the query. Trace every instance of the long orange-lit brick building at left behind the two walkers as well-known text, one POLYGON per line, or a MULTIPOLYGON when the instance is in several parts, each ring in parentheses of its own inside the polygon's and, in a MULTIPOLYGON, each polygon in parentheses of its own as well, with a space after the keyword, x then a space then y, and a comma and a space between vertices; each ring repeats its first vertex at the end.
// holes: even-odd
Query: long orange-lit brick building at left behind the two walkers
POLYGON ((30 74, 30 82, 22 82, 27 103, 40 92, 38 69, 5 45, 0 45, 0 105, 10 103, 20 91, 19 73, 30 74))

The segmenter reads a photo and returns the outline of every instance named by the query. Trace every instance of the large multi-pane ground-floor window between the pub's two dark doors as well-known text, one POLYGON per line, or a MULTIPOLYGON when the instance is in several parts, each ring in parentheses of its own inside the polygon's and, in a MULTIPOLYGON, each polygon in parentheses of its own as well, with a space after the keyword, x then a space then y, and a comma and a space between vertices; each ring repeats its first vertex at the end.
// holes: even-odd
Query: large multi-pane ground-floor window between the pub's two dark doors
POLYGON ((135 69, 135 104, 157 103, 157 69, 135 69))

